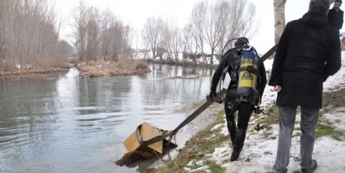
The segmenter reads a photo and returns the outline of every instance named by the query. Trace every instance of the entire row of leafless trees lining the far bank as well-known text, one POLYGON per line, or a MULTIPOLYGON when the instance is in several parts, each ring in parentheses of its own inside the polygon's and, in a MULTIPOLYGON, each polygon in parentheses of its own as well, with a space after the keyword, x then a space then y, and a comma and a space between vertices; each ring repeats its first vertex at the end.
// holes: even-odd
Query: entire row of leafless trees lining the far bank
MULTIPOLYGON (((0 1, 0 70, 54 64, 51 59, 72 53, 86 63, 100 58, 117 61, 120 55, 132 55, 138 49, 131 48, 135 35, 131 26, 110 10, 101 11, 83 0, 74 7, 68 22, 71 44, 61 40, 62 24, 67 22, 59 17, 54 4, 53 0, 0 1)), ((165 53, 171 62, 180 60, 179 53, 193 59, 205 58, 208 53, 212 64, 213 55, 220 55, 228 40, 251 37, 254 16, 255 6, 247 0, 198 1, 183 28, 162 17, 146 19, 141 49, 153 52, 153 60, 165 53)))

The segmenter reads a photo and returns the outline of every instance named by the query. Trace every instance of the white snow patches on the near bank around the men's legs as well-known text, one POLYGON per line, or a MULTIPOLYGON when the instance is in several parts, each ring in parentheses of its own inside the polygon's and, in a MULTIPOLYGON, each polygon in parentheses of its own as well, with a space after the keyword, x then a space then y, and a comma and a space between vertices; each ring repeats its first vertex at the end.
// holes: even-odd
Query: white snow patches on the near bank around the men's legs
MULTIPOLYGON (((271 69, 273 60, 266 60, 264 62, 266 69, 271 69)), ((328 80, 323 83, 323 90, 339 90, 345 88, 345 51, 342 52, 342 69, 334 76, 330 76, 328 80)), ((267 85, 264 90, 264 96, 261 107, 269 106, 276 99, 276 92, 271 91, 272 87, 267 85)), ((225 116, 224 116, 225 117, 225 116)), ((333 124, 333 127, 340 131, 345 131, 345 108, 338 108, 332 110, 321 117, 333 124)), ((269 131, 261 130, 254 131, 253 128, 256 125, 255 116, 251 117, 249 122, 249 129, 244 142, 244 147, 239 156, 239 160, 230 162, 230 155, 233 151, 230 147, 230 140, 224 141, 224 146, 216 148, 212 156, 206 156, 207 159, 212 159, 218 164, 226 168, 226 172, 230 173, 250 173, 250 172, 267 172, 271 170, 274 160, 276 158, 276 149, 278 141, 278 124, 271 125, 273 129, 269 131), (264 138, 264 135, 269 135, 271 138, 264 138)), ((296 115, 296 122, 300 122, 300 116, 296 115)), ((296 123, 296 127, 299 123, 296 123)), ((213 129, 222 128, 222 134, 228 135, 226 124, 217 124, 213 129)), ((296 136, 292 138, 291 157, 290 163, 287 169, 289 172, 301 172, 300 168, 300 145, 299 145, 299 133, 298 130, 294 131, 296 136)), ((329 136, 323 136, 317 138, 314 145, 313 158, 317 160, 318 167, 314 173, 344 173, 345 172, 345 140, 334 140, 329 136)), ((190 170, 186 167, 186 170, 190 172, 198 172, 204 170, 209 172, 207 166, 203 166, 203 160, 192 160, 191 163, 197 163, 200 165, 198 170, 190 170)))

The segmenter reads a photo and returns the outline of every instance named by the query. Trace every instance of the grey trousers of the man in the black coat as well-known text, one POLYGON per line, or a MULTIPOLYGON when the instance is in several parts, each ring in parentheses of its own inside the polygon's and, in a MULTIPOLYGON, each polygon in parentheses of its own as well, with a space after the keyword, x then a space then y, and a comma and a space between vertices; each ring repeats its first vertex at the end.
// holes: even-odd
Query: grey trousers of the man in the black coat
MULTIPOLYGON (((291 138, 294 131, 297 106, 278 106, 279 138, 274 172, 287 172, 291 138)), ((312 165, 315 130, 319 120, 319 108, 301 106, 301 168, 312 165)))

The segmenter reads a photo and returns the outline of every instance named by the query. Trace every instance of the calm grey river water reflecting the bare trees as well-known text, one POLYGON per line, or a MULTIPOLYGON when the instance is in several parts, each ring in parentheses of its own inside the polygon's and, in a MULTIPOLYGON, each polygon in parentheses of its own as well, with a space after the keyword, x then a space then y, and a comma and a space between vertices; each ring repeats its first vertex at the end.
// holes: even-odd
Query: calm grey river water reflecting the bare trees
POLYGON ((160 160, 115 164, 127 152, 122 142, 142 122, 175 129, 188 116, 176 110, 205 99, 212 75, 150 67, 141 76, 87 78, 71 68, 0 79, 0 172, 150 172, 160 160))

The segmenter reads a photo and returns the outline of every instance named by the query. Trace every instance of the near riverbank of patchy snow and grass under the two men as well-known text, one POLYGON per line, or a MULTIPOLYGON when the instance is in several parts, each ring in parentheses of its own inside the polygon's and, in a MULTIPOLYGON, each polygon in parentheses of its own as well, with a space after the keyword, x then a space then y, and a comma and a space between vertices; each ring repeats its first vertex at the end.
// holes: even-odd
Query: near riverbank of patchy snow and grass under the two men
MULTIPOLYGON (((317 139, 313 158, 319 163, 315 173, 344 172, 345 152, 345 53, 342 52, 343 67, 337 74, 323 83, 323 108, 320 110, 317 126, 317 139)), ((265 62, 266 63, 266 62, 265 62)), ((265 65, 271 67, 271 65, 265 65)), ((276 92, 271 87, 264 90, 260 119, 253 115, 239 160, 230 162, 233 151, 226 128, 224 113, 217 115, 217 121, 196 133, 185 147, 180 149, 174 160, 163 163, 155 172, 216 172, 216 173, 254 173, 271 170, 276 158, 278 141, 278 111, 275 105, 276 92), (255 131, 260 122, 262 129, 255 131)), ((299 113, 298 113, 299 114, 299 113)), ((300 173, 299 136, 300 116, 296 115, 296 125, 292 138, 289 172, 300 173)))

